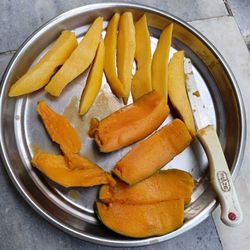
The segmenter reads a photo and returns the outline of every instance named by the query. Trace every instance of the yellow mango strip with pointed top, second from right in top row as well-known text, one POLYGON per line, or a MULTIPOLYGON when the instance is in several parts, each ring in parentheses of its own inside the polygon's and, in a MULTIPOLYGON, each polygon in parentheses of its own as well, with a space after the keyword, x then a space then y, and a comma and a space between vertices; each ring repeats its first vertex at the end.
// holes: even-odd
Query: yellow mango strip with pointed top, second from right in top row
POLYGON ((152 60, 152 88, 168 101, 168 57, 172 41, 173 24, 161 33, 152 60))

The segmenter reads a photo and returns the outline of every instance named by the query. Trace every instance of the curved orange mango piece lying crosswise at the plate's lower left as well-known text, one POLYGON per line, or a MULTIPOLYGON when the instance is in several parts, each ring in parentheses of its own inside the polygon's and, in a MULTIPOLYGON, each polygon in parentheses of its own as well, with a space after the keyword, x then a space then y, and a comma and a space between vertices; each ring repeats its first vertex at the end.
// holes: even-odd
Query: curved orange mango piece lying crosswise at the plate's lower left
POLYGON ((64 187, 90 187, 113 183, 112 177, 93 163, 92 167, 70 169, 62 155, 39 151, 32 159, 34 167, 64 187))

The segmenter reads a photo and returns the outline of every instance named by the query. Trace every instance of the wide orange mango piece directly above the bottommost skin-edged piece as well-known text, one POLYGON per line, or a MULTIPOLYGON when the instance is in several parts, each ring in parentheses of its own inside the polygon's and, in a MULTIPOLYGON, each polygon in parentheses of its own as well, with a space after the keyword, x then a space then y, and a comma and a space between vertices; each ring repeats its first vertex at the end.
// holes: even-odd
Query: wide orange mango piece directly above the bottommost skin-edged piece
POLYGON ((99 199, 104 203, 151 204, 166 200, 184 199, 188 204, 194 188, 194 180, 189 173, 169 169, 159 171, 151 177, 128 185, 117 180, 115 186, 103 185, 99 199))

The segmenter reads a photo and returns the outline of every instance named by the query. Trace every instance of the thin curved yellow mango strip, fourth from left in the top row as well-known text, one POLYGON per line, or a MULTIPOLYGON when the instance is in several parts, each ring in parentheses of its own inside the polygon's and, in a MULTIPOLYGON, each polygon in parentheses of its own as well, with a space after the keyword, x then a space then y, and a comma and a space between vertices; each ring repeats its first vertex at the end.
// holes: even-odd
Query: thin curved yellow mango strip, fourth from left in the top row
POLYGON ((117 33, 118 33, 119 20, 120 20, 120 14, 115 13, 114 16, 111 18, 111 20, 109 21, 107 27, 104 39, 104 44, 105 44, 104 72, 112 92, 117 97, 122 97, 125 95, 124 87, 116 73, 116 49, 117 49, 117 33))

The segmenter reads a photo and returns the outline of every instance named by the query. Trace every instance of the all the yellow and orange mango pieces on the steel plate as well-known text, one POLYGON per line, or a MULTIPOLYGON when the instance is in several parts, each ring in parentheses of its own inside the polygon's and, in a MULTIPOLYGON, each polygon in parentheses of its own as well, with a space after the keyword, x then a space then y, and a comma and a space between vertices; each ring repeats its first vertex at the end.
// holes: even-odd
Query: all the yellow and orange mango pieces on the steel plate
POLYGON ((184 221, 184 205, 191 200, 194 180, 177 169, 160 170, 194 139, 195 127, 184 74, 184 52, 169 62, 173 24, 162 31, 151 58, 150 33, 143 15, 135 24, 130 12, 115 13, 104 40, 103 18, 98 17, 78 44, 71 31, 63 31, 53 46, 10 88, 15 97, 44 88, 58 97, 89 66, 79 115, 94 104, 103 72, 111 91, 127 104, 101 121, 93 117, 89 135, 99 150, 113 152, 138 142, 112 169, 112 174, 80 155, 81 141, 65 117, 44 100, 37 112, 61 154, 38 151, 32 164, 64 187, 102 185, 96 201, 99 219, 107 227, 130 237, 166 234, 184 221), (136 72, 132 67, 136 62, 136 72), (170 100, 179 118, 157 130, 170 113, 170 100), (145 139, 146 138, 146 139, 145 139))

